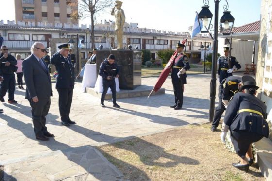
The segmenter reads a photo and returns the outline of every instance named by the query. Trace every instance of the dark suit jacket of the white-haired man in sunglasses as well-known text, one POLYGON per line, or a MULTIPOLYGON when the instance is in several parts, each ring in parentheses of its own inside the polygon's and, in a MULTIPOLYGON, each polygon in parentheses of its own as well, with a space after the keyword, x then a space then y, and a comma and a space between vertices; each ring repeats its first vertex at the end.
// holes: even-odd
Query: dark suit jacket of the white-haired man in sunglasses
MULTIPOLYGON (((45 62, 43 62, 45 64, 45 62)), ((23 61, 23 74, 26 83, 26 99, 37 96, 38 99, 48 99, 53 95, 51 77, 45 64, 46 70, 40 65, 34 55, 30 55, 23 61)))

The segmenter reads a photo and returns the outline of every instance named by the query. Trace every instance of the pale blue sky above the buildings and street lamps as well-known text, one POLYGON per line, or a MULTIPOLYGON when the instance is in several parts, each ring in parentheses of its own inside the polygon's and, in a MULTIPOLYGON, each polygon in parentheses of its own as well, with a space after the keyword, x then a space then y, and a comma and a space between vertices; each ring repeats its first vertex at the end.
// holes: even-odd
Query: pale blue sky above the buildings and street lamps
MULTIPOLYGON (((175 32, 187 32, 193 26, 196 16, 204 5, 203 0, 121 0, 126 22, 138 23, 139 28, 152 28, 175 32)), ((0 0, 9 8, 1 8, 0 20, 15 20, 14 0, 0 0)), ((219 19, 223 15, 225 0, 219 4, 219 19)), ((229 11, 235 18, 234 26, 238 27, 260 19, 261 0, 228 0, 229 11)), ((214 0, 209 0, 211 12, 214 14, 214 0)), ((101 20, 114 20, 110 9, 97 16, 101 20)), ((90 24, 90 19, 80 21, 80 24, 90 24)))

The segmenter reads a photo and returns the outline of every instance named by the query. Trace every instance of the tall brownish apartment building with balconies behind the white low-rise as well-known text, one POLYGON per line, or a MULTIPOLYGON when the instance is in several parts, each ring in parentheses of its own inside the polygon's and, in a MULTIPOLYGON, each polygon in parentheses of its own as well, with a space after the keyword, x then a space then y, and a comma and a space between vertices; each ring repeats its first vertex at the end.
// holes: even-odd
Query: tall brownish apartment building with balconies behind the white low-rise
POLYGON ((42 23, 44 26, 78 26, 78 20, 70 18, 77 13, 78 0, 14 0, 15 21, 18 25, 42 23))

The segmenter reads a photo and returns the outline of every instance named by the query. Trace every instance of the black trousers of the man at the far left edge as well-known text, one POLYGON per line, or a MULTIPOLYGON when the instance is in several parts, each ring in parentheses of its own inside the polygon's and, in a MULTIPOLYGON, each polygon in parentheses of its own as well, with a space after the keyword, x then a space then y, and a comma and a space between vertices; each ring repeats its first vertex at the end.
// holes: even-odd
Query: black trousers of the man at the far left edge
POLYGON ((9 93, 8 100, 13 100, 15 91, 15 75, 3 74, 2 76, 4 80, 1 82, 0 97, 4 97, 8 90, 9 93))

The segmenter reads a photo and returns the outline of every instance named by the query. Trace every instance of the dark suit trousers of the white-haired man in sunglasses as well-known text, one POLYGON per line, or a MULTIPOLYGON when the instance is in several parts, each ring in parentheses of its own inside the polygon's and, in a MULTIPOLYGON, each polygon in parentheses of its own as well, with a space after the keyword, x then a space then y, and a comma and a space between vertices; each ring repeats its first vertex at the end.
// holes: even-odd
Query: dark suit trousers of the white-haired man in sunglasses
POLYGON ((28 100, 32 108, 32 122, 34 126, 34 132, 38 136, 47 133, 47 128, 45 126, 45 116, 48 114, 50 108, 50 97, 48 99, 39 99, 38 102, 33 102, 28 100))

